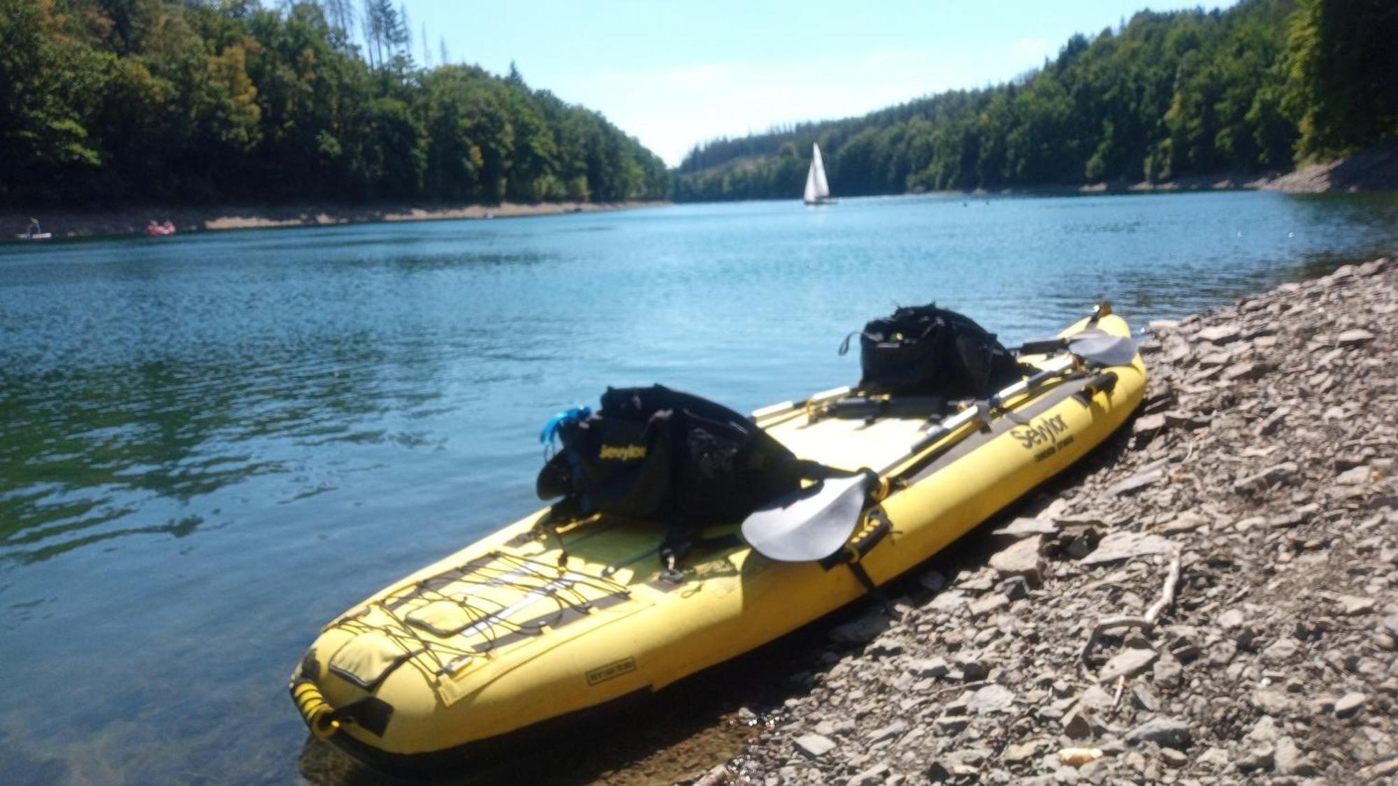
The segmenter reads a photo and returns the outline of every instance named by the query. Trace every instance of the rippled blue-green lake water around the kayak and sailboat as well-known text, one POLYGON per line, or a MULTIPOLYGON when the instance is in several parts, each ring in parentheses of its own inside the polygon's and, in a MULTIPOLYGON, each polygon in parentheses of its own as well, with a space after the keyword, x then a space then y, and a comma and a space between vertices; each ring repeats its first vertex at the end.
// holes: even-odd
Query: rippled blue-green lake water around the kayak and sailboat
POLYGON ((1398 246, 1398 196, 858 199, 0 248, 0 780, 298 776, 319 627, 540 503, 607 385, 854 382, 935 299, 1007 343, 1398 246))

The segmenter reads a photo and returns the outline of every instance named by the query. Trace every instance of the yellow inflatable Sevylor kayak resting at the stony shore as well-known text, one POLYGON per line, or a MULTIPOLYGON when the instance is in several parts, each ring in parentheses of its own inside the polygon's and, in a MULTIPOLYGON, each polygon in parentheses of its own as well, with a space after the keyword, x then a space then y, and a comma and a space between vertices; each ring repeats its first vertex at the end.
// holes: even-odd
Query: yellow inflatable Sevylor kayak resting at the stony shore
POLYGON ((896 408, 822 417, 847 387, 754 413, 801 459, 878 471, 843 565, 714 538, 726 545, 667 571, 653 523, 593 516, 544 527, 537 513, 326 625, 292 676, 292 698, 313 734, 351 755, 431 771, 776 639, 864 596, 865 579, 879 585, 927 559, 1127 420, 1145 390, 1127 323, 1103 313, 1060 336, 1065 348, 1021 358, 1042 369, 1030 382, 939 424, 896 408), (1085 361, 1069 338, 1089 333, 1131 348, 1085 361))

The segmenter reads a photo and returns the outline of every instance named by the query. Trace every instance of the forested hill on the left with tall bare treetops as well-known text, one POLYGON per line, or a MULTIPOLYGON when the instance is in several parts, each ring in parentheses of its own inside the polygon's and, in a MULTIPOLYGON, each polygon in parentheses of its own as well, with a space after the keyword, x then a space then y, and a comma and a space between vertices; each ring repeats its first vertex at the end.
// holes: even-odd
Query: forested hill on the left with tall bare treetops
POLYGON ((597 112, 418 67, 389 0, 365 3, 361 49, 327 22, 354 6, 0 0, 0 204, 668 196, 597 112))

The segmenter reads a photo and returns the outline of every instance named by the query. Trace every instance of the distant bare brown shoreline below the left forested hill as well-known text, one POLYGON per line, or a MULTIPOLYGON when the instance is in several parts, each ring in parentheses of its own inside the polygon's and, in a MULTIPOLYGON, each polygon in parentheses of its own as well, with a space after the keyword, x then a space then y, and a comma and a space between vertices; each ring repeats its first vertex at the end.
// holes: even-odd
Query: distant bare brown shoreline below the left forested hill
POLYGON ((29 217, 39 218, 45 232, 57 238, 94 235, 140 235, 150 221, 171 221, 180 232, 217 229, 266 229, 277 227, 330 227, 336 224, 377 224, 390 221, 447 221, 460 218, 517 218, 660 207, 667 201, 559 201, 502 204, 299 204, 299 206, 214 206, 214 207, 127 207, 94 210, 0 210, 3 241, 17 241, 29 217))

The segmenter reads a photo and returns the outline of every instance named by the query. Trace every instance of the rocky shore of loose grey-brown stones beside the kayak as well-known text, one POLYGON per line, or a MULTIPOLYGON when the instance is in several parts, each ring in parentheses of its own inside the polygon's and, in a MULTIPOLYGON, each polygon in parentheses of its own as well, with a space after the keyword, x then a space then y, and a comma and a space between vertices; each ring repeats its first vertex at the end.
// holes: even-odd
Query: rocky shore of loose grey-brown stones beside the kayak
POLYGON ((832 627, 692 780, 1398 773, 1398 264, 1151 331, 1134 424, 896 582, 898 620, 832 627))

